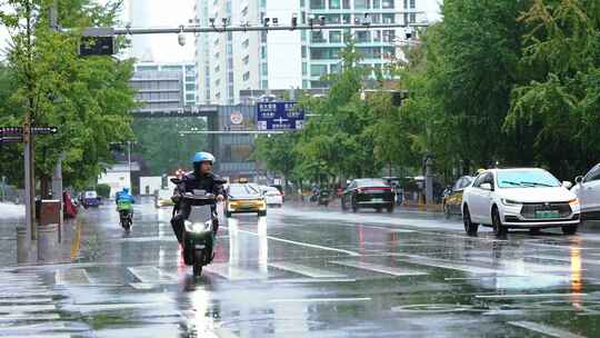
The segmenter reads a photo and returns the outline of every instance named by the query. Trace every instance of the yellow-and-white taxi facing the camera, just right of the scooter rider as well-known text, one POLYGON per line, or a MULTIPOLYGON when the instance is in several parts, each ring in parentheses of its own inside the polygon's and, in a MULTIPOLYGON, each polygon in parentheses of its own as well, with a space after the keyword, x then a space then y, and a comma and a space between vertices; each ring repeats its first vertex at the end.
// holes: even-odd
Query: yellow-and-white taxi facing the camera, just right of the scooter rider
POLYGON ((258 216, 267 216, 267 201, 260 193, 258 186, 251 183, 231 183, 227 189, 227 195, 224 208, 227 217, 242 212, 257 212, 258 216))

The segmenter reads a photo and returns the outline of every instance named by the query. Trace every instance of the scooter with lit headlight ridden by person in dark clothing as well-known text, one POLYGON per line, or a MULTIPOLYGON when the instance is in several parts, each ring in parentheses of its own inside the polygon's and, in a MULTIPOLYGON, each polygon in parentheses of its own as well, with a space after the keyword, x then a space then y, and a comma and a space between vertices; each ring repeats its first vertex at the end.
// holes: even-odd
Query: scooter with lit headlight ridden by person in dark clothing
MULTIPOLYGON (((172 179, 179 185, 180 180, 172 179)), ((183 229, 183 262, 193 267, 193 275, 200 277, 202 267, 212 262, 219 219, 217 217, 217 199, 204 190, 193 190, 181 195, 180 202, 190 207, 190 216, 183 229)), ((177 212, 173 208, 173 216, 177 212)))

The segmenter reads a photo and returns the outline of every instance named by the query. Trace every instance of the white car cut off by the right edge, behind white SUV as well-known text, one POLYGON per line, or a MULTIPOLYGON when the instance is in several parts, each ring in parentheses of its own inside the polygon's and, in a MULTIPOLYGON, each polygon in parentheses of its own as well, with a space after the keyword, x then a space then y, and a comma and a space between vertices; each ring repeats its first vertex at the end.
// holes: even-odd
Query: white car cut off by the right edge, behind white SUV
POLYGON ((578 176, 576 182, 571 191, 581 203, 581 218, 600 220, 600 163, 584 177, 578 176))

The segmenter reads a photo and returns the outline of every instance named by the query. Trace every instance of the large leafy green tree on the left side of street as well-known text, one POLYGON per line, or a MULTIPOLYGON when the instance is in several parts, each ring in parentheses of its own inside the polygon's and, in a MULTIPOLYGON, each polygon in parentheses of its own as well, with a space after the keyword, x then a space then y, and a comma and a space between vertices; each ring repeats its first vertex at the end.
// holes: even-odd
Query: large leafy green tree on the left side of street
POLYGON ((77 52, 82 29, 113 26, 120 2, 59 1, 60 23, 71 28, 69 33, 50 28, 52 2, 11 0, 10 10, 0 13, 12 41, 7 67, 14 88, 8 101, 23 107, 1 116, 1 122, 22 123, 29 115, 34 125, 58 126, 58 135, 36 138, 36 173, 48 187, 53 166, 66 153, 66 183, 82 187, 111 162, 110 142, 132 136, 132 62, 77 52))

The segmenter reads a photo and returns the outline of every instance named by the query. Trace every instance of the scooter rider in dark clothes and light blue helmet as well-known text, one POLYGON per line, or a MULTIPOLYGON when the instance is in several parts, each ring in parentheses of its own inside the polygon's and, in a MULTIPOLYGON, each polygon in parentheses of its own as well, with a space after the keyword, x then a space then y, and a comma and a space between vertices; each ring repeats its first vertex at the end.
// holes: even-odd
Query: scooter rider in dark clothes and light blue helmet
MULTIPOLYGON (((193 156, 192 165, 193 171, 183 175, 181 183, 179 183, 173 193, 173 201, 176 202, 174 211, 179 212, 171 218, 171 227, 176 233, 177 240, 180 245, 183 241, 183 229, 186 219, 190 216, 191 208, 182 199, 181 195, 184 192, 193 192, 194 189, 201 189, 207 192, 213 193, 217 201, 224 200, 223 186, 219 181, 219 176, 212 172, 212 163, 214 157, 209 152, 197 152, 193 156)), ((219 229, 219 222, 214 225, 214 233, 219 229)))

